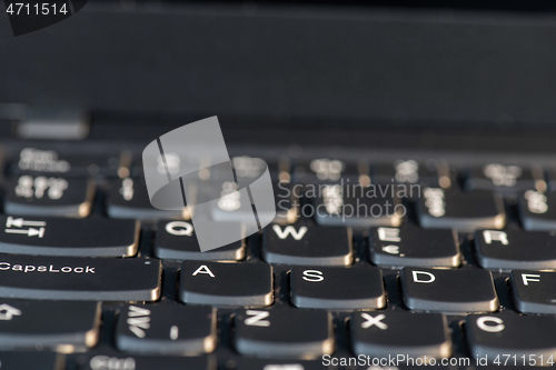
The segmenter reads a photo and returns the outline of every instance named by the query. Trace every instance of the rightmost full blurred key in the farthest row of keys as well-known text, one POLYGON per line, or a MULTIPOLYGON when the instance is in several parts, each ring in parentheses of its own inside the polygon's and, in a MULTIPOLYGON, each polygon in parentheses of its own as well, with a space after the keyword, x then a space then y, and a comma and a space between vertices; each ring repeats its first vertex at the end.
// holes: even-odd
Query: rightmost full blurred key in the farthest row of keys
POLYGON ((488 163, 461 172, 467 190, 486 189, 498 191, 533 190, 546 191, 543 169, 534 164, 529 168, 488 163))

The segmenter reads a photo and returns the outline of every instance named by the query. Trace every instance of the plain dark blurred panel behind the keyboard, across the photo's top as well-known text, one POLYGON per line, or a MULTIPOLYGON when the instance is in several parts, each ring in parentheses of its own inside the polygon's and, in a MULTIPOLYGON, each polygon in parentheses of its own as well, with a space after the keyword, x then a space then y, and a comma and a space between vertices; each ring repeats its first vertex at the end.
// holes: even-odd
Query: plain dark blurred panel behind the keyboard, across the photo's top
POLYGON ((89 1, 17 38, 2 14, 0 101, 275 126, 550 128, 556 6, 443 3, 89 1))

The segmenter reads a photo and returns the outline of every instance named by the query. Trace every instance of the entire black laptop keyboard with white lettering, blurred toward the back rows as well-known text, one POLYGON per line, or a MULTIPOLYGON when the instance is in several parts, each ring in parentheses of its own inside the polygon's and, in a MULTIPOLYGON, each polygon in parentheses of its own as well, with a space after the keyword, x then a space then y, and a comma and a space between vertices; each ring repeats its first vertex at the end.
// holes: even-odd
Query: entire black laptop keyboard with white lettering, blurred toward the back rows
MULTIPOLYGON (((555 360, 550 169, 268 158, 276 222, 201 253, 189 210, 153 209, 129 152, 11 158, 1 370, 555 360), (380 184, 396 192, 365 193, 380 184)), ((237 161, 252 177, 258 160, 237 161)))

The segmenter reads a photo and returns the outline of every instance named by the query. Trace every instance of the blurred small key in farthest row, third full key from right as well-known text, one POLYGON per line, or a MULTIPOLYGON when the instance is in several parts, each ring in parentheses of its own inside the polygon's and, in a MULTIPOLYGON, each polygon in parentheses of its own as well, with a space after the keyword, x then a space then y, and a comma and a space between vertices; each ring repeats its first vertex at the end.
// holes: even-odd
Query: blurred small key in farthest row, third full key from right
POLYGON ((296 183, 338 183, 341 179, 344 181, 349 179, 351 183, 358 183, 359 176, 365 174, 359 167, 357 163, 339 159, 317 158, 309 161, 297 161, 291 174, 296 183))

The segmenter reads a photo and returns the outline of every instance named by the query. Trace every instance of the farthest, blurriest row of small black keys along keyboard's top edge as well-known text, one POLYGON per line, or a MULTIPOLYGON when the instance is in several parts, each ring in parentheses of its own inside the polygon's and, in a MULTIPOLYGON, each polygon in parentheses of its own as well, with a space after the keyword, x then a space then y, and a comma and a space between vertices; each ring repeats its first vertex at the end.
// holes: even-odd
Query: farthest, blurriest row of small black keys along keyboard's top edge
MULTIPOLYGON (((8 169, 11 173, 29 173, 66 177, 142 177, 141 158, 131 152, 113 154, 63 153, 56 150, 23 148, 13 156, 8 169)), ((196 164, 193 158, 169 154, 168 170, 179 170, 179 163, 196 164)), ((199 161, 197 159, 197 161, 199 161)), ((160 158, 160 163, 162 160, 160 158)), ((517 166, 512 163, 486 163, 484 166, 459 166, 450 168, 444 160, 397 159, 391 162, 369 163, 367 160, 345 161, 334 158, 312 160, 262 160, 251 157, 235 157, 234 168, 239 178, 260 177, 268 163, 276 179, 292 180, 296 183, 338 182, 340 179, 361 184, 368 183, 421 183, 444 189, 460 182, 466 190, 538 190, 546 191, 556 180, 556 168, 543 169, 539 164, 517 166)), ((202 163, 197 163, 202 168, 202 163)), ((206 167, 206 166, 205 166, 206 167)))

